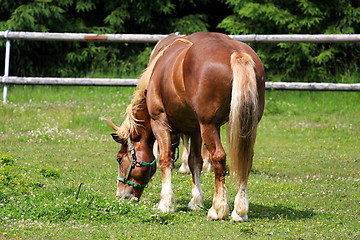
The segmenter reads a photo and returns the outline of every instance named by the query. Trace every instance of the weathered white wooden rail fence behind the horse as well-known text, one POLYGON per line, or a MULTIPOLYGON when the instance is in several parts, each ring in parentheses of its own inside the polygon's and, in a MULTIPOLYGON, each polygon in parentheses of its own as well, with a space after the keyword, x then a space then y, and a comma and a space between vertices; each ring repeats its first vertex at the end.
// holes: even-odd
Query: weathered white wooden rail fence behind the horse
MULTIPOLYGON (((92 86, 134 86, 137 79, 101 79, 101 78, 39 78, 9 76, 10 67, 10 41, 36 40, 36 41, 101 41, 101 42, 157 42, 167 35, 162 34, 88 34, 88 33, 44 33, 44 32, 12 32, 0 31, 0 40, 6 40, 5 70, 1 83, 3 88, 3 102, 7 99, 8 84, 23 85, 92 85, 92 86)), ((235 40, 244 42, 306 42, 306 43, 359 43, 360 34, 295 34, 295 35, 229 35, 235 40)), ((267 89, 283 90, 323 90, 323 91, 360 91, 360 83, 288 83, 267 82, 267 89)))

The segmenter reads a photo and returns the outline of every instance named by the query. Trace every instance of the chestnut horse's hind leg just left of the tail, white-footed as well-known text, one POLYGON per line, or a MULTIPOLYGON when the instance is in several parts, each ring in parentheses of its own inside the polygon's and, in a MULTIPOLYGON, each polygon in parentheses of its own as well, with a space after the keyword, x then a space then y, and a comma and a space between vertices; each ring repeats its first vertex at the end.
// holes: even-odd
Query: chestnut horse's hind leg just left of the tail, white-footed
POLYGON ((215 174, 214 198, 207 219, 224 219, 229 215, 229 205, 225 186, 226 153, 220 141, 220 128, 212 125, 200 125, 200 128, 215 174))

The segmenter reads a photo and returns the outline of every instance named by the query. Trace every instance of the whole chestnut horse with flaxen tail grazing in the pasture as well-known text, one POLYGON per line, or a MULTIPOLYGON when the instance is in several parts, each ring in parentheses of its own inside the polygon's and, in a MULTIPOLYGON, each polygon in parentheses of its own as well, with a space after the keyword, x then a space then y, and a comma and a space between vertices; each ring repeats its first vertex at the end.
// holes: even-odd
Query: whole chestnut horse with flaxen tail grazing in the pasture
POLYGON ((112 136, 121 143, 117 195, 139 200, 155 173, 152 152, 160 149, 161 212, 174 211, 171 184, 171 137, 191 138, 189 167, 192 199, 188 207, 203 208, 200 173, 202 142, 215 174, 209 220, 229 215, 225 186, 226 153, 220 126, 228 122, 230 176, 238 184, 232 221, 246 221, 249 202, 246 185, 252 166, 256 128, 264 109, 265 72, 261 60, 246 44, 220 33, 170 35, 155 47, 141 76, 127 118, 112 136))

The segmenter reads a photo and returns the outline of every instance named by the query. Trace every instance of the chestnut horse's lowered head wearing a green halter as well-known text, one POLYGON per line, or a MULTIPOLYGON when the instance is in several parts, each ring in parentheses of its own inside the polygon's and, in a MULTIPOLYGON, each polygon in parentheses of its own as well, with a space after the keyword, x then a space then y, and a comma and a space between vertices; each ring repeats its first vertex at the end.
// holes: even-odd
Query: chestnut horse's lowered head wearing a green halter
POLYGON ((119 163, 117 197, 138 201, 156 171, 153 154, 155 137, 147 115, 146 108, 140 108, 135 113, 136 118, 128 117, 120 127, 108 120, 116 131, 111 134, 113 139, 120 143, 116 157, 119 163))

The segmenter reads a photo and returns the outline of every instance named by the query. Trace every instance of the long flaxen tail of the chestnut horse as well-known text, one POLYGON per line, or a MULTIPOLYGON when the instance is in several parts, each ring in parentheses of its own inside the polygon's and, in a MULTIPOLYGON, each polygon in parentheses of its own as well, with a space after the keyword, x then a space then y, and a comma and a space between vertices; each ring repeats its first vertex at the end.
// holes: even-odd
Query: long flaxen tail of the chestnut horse
POLYGON ((228 125, 230 176, 237 184, 246 185, 252 166, 259 111, 255 63, 250 55, 234 52, 231 68, 233 83, 228 125))

